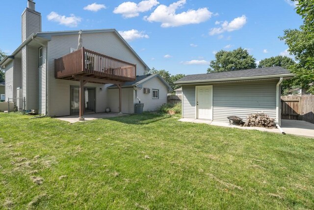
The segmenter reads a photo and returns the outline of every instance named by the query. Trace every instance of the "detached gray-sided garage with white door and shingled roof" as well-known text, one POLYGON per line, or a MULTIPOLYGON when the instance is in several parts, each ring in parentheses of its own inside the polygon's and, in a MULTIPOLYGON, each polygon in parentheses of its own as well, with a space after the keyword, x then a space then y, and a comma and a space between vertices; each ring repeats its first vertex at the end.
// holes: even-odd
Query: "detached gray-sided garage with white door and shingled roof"
POLYGON ((182 86, 182 117, 227 122, 235 115, 245 121, 264 112, 280 125, 280 84, 293 76, 282 67, 187 75, 175 82, 182 86))

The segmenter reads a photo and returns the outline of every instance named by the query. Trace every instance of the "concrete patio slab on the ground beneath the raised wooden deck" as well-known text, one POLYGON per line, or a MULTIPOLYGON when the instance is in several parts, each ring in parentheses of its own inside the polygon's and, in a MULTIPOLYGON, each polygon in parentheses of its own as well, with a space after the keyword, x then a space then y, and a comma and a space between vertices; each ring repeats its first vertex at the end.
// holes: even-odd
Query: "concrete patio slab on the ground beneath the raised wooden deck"
MULTIPOLYGON (((84 118, 86 120, 97 120, 97 119, 104 119, 104 118, 114 118, 114 117, 118 117, 118 116, 126 116, 127 114, 119 114, 119 113, 106 113, 106 112, 102 112, 102 113, 91 113, 91 114, 84 114, 84 118)), ((64 116, 64 117, 56 117, 55 119, 58 120, 63 120, 63 121, 67 121, 70 123, 75 123, 75 122, 83 122, 83 121, 79 121, 78 120, 78 115, 73 115, 73 116, 64 116)))

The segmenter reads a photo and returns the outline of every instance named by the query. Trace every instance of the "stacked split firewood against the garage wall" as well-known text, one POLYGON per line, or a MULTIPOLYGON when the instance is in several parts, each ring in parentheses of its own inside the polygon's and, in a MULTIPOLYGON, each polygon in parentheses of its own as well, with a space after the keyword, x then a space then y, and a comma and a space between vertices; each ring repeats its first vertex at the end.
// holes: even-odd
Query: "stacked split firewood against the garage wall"
POLYGON ((272 128, 275 126, 274 121, 274 119, 269 118, 265 113, 256 113, 247 116, 243 126, 272 128))

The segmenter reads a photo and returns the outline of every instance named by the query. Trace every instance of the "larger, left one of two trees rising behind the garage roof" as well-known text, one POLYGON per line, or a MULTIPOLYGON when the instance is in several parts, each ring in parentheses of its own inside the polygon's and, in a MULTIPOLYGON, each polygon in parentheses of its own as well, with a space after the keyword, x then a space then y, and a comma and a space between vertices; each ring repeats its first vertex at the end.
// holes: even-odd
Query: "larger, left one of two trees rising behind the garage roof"
POLYGON ((233 51, 221 50, 211 60, 207 72, 235 71, 256 68, 256 59, 246 49, 237 48, 233 51))

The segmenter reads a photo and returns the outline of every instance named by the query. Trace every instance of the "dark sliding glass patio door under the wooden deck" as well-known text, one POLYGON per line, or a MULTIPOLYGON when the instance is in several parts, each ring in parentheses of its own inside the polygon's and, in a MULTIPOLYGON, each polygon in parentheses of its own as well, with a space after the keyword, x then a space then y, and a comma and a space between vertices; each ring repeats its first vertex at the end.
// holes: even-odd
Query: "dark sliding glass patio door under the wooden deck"
MULTIPOLYGON (((71 86, 71 115, 79 114, 79 87, 71 86)), ((84 113, 95 112, 95 88, 84 88, 84 113)))

